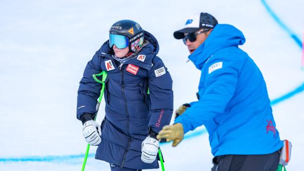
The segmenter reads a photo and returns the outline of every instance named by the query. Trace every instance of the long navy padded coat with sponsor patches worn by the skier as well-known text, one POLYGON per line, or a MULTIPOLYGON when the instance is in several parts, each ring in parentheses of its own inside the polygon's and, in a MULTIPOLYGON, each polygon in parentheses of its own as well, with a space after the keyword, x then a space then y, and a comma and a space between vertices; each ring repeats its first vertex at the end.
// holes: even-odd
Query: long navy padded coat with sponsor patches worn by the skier
POLYGON ((134 170, 158 168, 157 160, 152 164, 141 160, 142 142, 149 129, 158 133, 168 125, 173 111, 172 79, 156 56, 157 40, 146 31, 145 40, 149 44, 122 66, 112 57, 109 41, 105 42, 88 62, 77 97, 78 119, 85 112, 95 113, 101 84, 92 75, 108 72, 104 95, 106 116, 95 158, 134 170))

